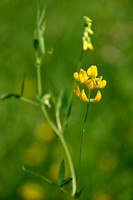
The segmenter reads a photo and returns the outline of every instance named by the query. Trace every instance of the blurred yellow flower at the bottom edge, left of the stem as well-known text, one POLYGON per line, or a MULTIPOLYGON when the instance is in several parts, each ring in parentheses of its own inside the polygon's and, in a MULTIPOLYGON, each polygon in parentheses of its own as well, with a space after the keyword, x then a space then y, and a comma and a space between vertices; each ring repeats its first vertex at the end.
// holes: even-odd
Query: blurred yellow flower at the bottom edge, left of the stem
POLYGON ((18 190, 19 196, 23 200, 43 200, 44 189, 37 183, 25 183, 18 190))

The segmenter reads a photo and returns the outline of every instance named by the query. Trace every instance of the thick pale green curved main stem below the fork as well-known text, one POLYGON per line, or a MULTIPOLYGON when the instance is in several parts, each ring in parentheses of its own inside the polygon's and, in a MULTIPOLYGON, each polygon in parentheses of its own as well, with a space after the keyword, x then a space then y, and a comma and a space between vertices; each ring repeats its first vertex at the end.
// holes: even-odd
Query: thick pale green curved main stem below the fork
POLYGON ((71 176, 72 176, 72 196, 74 196, 75 193, 76 193, 76 176, 75 176, 75 171, 74 171, 72 158, 71 158, 70 152, 68 150, 68 147, 67 147, 67 144, 65 142, 65 139, 64 139, 63 135, 60 134, 59 138, 60 138, 60 141, 61 141, 61 143, 62 143, 62 145, 64 147, 64 150, 66 152, 66 156, 67 156, 67 159, 68 159, 70 173, 71 173, 71 176))

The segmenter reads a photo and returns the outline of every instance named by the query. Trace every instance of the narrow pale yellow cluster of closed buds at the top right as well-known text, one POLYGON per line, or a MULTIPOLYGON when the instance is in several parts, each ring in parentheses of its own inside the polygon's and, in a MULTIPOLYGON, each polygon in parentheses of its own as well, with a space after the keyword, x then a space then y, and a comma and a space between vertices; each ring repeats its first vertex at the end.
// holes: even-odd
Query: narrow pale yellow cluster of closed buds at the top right
POLYGON ((91 43, 91 39, 90 39, 90 34, 93 34, 93 31, 91 29, 91 25, 92 25, 92 20, 89 17, 84 16, 84 24, 85 24, 85 30, 84 30, 84 34, 82 37, 83 40, 83 50, 86 51, 87 49, 90 50, 94 50, 94 47, 91 43))

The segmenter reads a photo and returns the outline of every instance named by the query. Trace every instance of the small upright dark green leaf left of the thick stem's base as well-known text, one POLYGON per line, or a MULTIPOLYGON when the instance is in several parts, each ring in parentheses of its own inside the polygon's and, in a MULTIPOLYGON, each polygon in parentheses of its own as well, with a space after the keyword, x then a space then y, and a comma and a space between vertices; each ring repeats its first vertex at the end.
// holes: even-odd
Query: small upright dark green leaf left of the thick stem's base
POLYGON ((58 173, 58 185, 61 187, 64 181, 64 176, 65 176, 65 161, 62 160, 59 168, 59 173, 58 173))

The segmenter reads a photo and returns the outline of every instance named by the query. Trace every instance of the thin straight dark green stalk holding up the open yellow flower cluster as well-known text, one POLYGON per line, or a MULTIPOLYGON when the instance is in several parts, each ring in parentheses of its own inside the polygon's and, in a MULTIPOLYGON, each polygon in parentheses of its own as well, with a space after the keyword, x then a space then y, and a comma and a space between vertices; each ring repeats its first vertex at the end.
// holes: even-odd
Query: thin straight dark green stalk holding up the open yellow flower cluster
POLYGON ((90 93, 91 93, 91 91, 89 90, 88 103, 87 103, 87 107, 86 107, 86 113, 85 113, 85 118, 84 118, 84 123, 83 123, 83 128, 82 128, 82 134, 81 134, 81 141, 80 141, 79 163, 78 163, 78 171, 77 171, 77 182, 79 180, 79 172, 80 172, 80 168, 81 168, 81 159, 82 159, 82 150, 83 150, 85 125, 86 125, 86 121, 87 121, 87 117, 88 117, 88 110, 89 110, 89 105, 90 105, 90 93))

